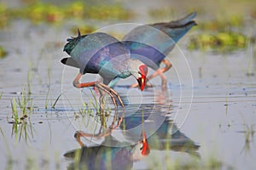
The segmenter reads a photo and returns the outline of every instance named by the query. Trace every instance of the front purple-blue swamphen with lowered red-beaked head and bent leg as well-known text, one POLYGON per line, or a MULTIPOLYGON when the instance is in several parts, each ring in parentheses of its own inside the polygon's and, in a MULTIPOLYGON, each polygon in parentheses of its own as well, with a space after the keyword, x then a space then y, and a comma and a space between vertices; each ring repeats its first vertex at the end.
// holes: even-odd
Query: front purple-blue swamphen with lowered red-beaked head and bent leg
POLYGON ((125 47, 114 37, 102 32, 81 35, 67 39, 63 51, 71 57, 61 59, 61 63, 80 69, 79 75, 74 79, 75 88, 97 87, 109 94, 113 99, 113 104, 117 106, 114 95, 119 99, 120 105, 124 106, 119 94, 108 83, 115 78, 133 77, 141 90, 143 90, 148 74, 148 67, 138 59, 131 59, 129 48, 125 47), (102 82, 79 83, 80 77, 85 73, 99 74, 103 78, 102 82))

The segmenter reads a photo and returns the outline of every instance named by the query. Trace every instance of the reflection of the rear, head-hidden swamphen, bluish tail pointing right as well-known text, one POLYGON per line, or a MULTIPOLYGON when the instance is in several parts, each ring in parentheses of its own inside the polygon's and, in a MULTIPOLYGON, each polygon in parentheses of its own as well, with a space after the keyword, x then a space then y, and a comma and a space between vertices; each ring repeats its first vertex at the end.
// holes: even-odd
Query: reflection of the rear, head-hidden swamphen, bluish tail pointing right
MULTIPOLYGON (((143 105, 142 107, 149 108, 149 105, 143 105)), ((161 105, 155 106, 163 110, 164 107, 161 105)), ((148 116, 144 114, 142 122, 142 117, 140 116, 127 116, 125 117, 125 127, 123 123, 120 124, 120 129, 125 131, 133 131, 136 129, 139 124, 143 123, 143 127, 148 135, 148 144, 150 145, 151 150, 172 150, 188 153, 190 156, 195 156, 200 158, 197 150, 200 148, 199 144, 196 144, 192 139, 189 139, 184 133, 180 131, 176 123, 173 122, 172 118, 168 115, 164 116, 164 121, 158 127, 157 120, 160 119, 160 115, 163 115, 162 112, 154 113, 154 116, 148 116)), ((136 130, 131 133, 136 133, 136 130)), ((126 138, 132 137, 126 133, 126 138)))

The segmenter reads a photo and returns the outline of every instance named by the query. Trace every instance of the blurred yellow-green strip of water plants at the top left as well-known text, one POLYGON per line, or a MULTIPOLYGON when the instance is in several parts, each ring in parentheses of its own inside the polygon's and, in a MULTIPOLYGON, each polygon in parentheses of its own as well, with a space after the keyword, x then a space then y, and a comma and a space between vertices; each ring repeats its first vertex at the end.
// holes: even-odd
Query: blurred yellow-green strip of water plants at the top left
POLYGON ((0 27, 6 25, 7 20, 22 18, 32 20, 33 23, 47 22, 61 23, 68 19, 82 20, 127 20, 131 12, 120 4, 87 4, 82 1, 55 5, 40 1, 26 3, 21 8, 6 8, 0 5, 0 27))

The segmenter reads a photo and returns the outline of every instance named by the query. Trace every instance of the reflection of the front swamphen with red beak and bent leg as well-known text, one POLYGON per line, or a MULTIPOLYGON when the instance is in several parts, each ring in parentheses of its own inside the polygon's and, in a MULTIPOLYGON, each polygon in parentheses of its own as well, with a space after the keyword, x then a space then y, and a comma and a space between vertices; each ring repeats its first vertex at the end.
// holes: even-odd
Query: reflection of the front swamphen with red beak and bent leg
POLYGON ((74 162, 69 166, 69 169, 131 169, 133 161, 148 156, 150 147, 144 131, 142 131, 142 139, 137 144, 121 144, 113 138, 111 133, 120 126, 122 120, 122 118, 119 118, 116 125, 113 121, 104 133, 76 132, 74 137, 79 142, 81 149, 71 150, 64 154, 66 157, 74 158, 74 162), (87 147, 81 141, 81 137, 104 138, 105 140, 100 145, 87 147))

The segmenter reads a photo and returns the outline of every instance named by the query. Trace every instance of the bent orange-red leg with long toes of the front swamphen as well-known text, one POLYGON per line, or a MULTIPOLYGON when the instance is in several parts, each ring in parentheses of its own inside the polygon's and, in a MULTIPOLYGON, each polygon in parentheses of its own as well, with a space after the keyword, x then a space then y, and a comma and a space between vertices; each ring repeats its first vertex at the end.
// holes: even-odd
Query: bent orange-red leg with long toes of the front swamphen
POLYGON ((104 92, 106 92, 107 94, 110 95, 111 99, 113 100, 113 104, 115 106, 118 106, 116 103, 116 100, 114 99, 115 95, 120 102, 120 105, 122 105, 123 107, 125 106, 122 99, 120 98, 119 94, 114 91, 112 88, 109 88, 107 85, 103 84, 102 82, 84 82, 84 83, 80 83, 79 79, 82 77, 82 74, 79 73, 79 75, 74 79, 73 81, 73 86, 75 88, 88 88, 88 87, 96 87, 96 88, 100 88, 102 89, 104 92))

